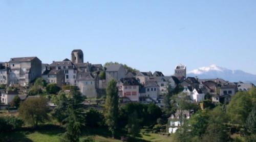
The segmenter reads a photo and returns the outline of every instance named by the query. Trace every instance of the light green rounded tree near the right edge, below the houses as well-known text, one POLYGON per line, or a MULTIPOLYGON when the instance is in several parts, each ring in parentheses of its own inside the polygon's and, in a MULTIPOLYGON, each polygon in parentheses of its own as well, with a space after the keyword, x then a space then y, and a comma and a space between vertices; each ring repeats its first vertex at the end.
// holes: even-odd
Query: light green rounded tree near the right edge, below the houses
MULTIPOLYGON (((256 98, 256 97, 255 97, 256 98)), ((238 92, 227 106, 227 114, 232 123, 245 124, 247 116, 252 109, 252 99, 248 92, 238 92)))

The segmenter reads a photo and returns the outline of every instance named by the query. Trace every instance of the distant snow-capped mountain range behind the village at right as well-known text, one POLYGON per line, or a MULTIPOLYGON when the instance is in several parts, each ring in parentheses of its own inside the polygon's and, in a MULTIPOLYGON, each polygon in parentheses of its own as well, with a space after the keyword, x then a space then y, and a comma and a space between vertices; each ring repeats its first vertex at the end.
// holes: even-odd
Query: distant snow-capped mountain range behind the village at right
POLYGON ((256 75, 249 74, 243 70, 231 70, 217 65, 200 67, 187 73, 188 77, 198 77, 199 79, 221 78, 229 82, 252 82, 256 84, 256 75))

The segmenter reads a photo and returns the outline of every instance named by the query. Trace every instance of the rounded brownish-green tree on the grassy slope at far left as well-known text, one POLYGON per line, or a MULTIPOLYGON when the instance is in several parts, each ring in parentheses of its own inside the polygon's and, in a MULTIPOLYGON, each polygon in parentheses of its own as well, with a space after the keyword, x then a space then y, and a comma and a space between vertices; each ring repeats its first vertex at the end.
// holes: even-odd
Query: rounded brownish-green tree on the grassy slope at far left
POLYGON ((27 98, 18 109, 19 116, 27 124, 37 127, 38 123, 48 120, 47 99, 43 97, 27 98))

